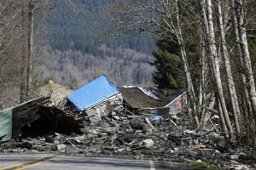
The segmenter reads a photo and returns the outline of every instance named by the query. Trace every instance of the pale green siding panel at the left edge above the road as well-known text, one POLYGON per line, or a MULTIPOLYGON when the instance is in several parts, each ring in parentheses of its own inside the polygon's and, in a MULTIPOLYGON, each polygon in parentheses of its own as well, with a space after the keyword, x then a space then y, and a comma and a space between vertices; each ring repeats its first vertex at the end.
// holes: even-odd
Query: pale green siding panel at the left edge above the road
POLYGON ((0 141, 12 139, 12 110, 0 111, 0 137, 6 135, 0 141))

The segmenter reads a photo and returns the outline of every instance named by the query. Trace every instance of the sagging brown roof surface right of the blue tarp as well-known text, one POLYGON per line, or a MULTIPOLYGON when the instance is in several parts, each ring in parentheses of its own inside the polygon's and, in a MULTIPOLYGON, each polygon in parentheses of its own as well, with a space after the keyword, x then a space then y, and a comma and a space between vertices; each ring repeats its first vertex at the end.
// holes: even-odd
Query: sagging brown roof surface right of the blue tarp
POLYGON ((178 95, 183 91, 179 89, 158 89, 158 97, 160 100, 153 99, 144 94, 139 88, 119 88, 123 99, 128 105, 136 109, 158 108, 165 107, 173 99, 176 99, 178 95))

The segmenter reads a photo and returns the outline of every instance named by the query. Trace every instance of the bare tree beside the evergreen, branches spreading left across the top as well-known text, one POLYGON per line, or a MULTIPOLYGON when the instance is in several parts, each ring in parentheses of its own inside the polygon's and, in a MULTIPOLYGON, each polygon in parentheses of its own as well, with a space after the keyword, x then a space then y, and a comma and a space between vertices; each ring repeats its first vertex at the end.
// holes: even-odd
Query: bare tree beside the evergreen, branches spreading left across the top
MULTIPOLYGON (((189 3, 180 0, 124 0, 113 1, 105 15, 111 19, 111 37, 118 36, 131 31, 148 31, 159 37, 177 39, 180 47, 180 55, 183 60, 183 71, 186 75, 188 94, 191 99, 193 113, 197 114, 195 89, 191 78, 188 64, 188 56, 184 48, 183 31, 180 20, 180 5, 186 6, 192 12, 193 8, 189 3), (174 38, 175 37, 175 38, 174 38)), ((174 41, 174 40, 173 40, 174 41)), ((199 126, 197 116, 194 116, 196 124, 199 126)))

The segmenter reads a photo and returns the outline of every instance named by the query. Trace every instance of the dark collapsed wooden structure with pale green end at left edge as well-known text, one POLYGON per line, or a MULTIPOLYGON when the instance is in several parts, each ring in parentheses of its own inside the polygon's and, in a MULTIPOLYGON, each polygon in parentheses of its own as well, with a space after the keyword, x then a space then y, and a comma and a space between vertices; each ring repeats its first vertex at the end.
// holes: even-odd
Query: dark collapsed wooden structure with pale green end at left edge
POLYGON ((44 106, 48 103, 49 97, 40 97, 0 111, 0 143, 20 137, 25 129, 37 135, 50 131, 82 133, 73 116, 55 106, 44 106))

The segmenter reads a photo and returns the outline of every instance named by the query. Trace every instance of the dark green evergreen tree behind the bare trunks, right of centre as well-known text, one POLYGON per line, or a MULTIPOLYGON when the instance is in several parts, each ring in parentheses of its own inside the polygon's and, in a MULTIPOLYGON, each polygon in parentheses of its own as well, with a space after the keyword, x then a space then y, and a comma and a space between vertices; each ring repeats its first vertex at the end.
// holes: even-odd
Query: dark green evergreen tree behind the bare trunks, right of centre
POLYGON ((186 78, 177 43, 164 38, 156 44, 159 49, 152 53, 154 62, 149 63, 156 69, 153 73, 154 84, 158 88, 185 88, 186 78))

